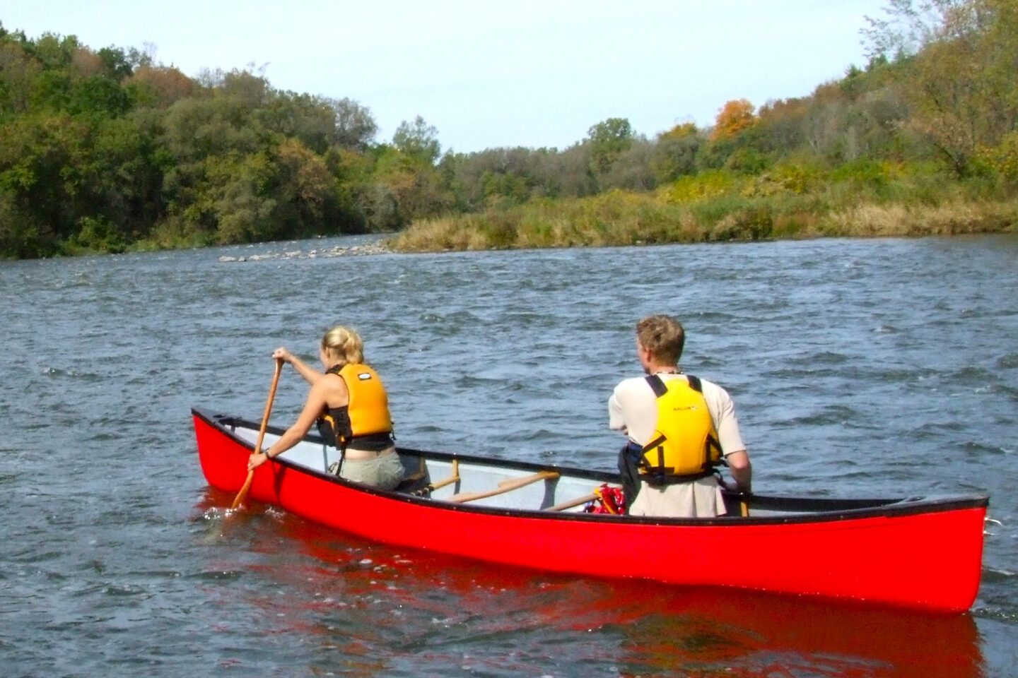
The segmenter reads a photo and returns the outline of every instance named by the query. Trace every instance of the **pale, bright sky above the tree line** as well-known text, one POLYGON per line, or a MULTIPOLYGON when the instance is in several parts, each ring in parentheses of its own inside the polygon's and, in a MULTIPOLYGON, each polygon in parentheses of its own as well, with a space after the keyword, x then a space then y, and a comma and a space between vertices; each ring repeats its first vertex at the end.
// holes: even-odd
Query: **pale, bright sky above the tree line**
POLYGON ((421 116, 442 149, 566 148, 608 118, 653 137, 722 106, 808 96, 864 66, 887 0, 0 0, 0 22, 194 77, 253 69, 349 98, 378 141, 421 116))

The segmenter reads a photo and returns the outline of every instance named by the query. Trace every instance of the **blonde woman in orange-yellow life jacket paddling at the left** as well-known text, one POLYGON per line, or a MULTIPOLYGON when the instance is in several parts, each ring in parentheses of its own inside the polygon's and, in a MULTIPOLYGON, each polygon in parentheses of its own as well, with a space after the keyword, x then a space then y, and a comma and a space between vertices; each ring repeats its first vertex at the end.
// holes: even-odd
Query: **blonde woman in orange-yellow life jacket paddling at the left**
POLYGON ((399 485, 404 471, 392 439, 389 399, 378 373, 363 364, 363 349, 356 331, 333 327, 319 347, 324 373, 285 348, 276 349, 272 357, 293 365, 312 387, 296 423, 265 452, 251 454, 248 470, 288 450, 317 422, 326 444, 343 452, 339 467, 330 471, 384 490, 399 485))

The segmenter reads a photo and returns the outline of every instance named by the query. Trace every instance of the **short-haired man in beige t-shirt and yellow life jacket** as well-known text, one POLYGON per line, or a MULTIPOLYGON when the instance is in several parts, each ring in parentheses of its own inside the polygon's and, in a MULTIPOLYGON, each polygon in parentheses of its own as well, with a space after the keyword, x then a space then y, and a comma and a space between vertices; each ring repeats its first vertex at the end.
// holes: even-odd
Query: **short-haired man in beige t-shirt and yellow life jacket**
POLYGON ((732 398, 718 384, 682 373, 684 343, 672 317, 636 323, 646 376, 620 382, 608 400, 609 426, 629 436, 619 471, 630 515, 713 517, 726 512, 721 485, 749 492, 752 469, 732 398), (722 458, 734 485, 720 477, 722 458))

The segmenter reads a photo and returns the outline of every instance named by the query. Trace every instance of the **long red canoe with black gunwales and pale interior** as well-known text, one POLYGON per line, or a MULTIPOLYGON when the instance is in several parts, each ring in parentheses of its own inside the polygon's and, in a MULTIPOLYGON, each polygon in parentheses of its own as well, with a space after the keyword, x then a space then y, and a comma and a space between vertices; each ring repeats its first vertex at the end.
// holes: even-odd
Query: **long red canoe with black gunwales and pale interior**
MULTIPOLYGON (((209 483, 237 492, 259 424, 192 409, 209 483)), ((270 427, 264 447, 282 433, 270 427)), ((407 481, 367 488, 326 469, 317 436, 254 472, 249 497, 379 542, 589 576, 737 587, 961 612, 975 600, 982 495, 825 499, 753 495, 748 516, 583 512, 617 475, 399 448, 407 481)))

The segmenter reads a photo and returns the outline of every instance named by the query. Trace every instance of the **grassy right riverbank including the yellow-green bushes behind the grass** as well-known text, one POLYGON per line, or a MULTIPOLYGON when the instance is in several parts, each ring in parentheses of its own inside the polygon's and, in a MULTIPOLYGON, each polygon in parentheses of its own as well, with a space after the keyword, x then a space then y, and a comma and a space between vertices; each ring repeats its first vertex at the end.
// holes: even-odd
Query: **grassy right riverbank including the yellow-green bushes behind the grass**
POLYGON ((892 175, 807 186, 791 171, 746 178, 711 173, 653 193, 615 190, 420 221, 387 245, 435 252, 1016 230, 1018 198, 1006 191, 892 175))

